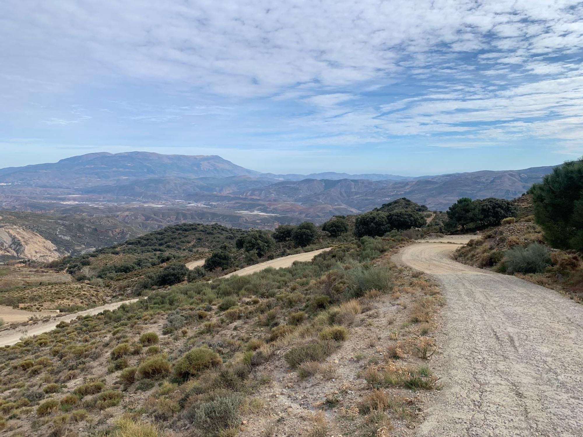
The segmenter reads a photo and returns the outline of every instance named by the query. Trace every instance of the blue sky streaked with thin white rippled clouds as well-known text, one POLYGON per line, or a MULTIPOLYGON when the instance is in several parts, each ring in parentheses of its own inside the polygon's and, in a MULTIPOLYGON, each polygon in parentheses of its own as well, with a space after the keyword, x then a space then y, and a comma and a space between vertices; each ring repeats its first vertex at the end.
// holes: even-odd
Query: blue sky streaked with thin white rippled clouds
POLYGON ((583 2, 3 0, 0 167, 401 175, 583 155, 583 2))

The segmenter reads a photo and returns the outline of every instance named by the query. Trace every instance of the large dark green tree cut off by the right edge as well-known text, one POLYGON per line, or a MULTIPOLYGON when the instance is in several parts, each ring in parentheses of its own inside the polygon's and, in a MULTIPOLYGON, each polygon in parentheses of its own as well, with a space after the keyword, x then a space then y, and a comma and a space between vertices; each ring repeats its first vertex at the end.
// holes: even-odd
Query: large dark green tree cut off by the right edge
POLYGON ((555 167, 529 193, 546 242, 583 252, 583 157, 555 167))

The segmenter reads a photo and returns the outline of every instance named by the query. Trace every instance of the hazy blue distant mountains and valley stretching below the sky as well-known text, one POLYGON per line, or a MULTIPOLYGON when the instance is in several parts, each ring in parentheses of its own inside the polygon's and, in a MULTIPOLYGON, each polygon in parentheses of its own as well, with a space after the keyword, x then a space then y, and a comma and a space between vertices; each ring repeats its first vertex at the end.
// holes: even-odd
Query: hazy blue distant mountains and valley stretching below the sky
MULTIPOLYGON (((197 217, 204 212, 208 220, 221 217, 223 224, 273 227, 283 221, 323 221, 336 214, 360 213, 401 197, 433 210, 445 210, 464 196, 512 199, 552 168, 423 177, 280 175, 248 170, 219 156, 90 153, 57 163, 0 169, 0 207, 45 213, 90 211, 120 216, 122 221, 136 217, 136 208, 146 216, 154 209, 177 216, 164 221, 157 213, 160 225, 179 223, 181 214, 175 212, 180 210, 187 217, 192 212, 197 217)), ((143 227, 146 221, 125 223, 143 227)))

